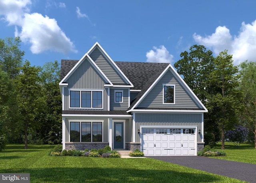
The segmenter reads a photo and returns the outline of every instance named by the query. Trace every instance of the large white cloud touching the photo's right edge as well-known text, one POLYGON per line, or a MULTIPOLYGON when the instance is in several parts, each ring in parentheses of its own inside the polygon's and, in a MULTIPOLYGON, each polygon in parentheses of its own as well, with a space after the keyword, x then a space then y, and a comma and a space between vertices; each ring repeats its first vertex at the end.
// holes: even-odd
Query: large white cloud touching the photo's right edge
POLYGON ((242 22, 238 35, 231 35, 228 28, 219 26, 212 35, 201 36, 194 33, 194 40, 213 49, 214 54, 228 49, 233 55, 234 65, 245 60, 256 61, 256 20, 252 24, 242 22))

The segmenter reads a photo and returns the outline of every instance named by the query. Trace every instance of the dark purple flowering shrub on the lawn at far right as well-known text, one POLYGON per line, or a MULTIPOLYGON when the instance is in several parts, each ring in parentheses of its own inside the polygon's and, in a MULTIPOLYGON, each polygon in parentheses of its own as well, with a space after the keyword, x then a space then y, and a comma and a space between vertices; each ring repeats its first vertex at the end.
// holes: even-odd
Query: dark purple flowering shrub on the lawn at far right
POLYGON ((248 136, 248 129, 241 125, 234 127, 234 130, 228 130, 226 132, 225 137, 228 142, 233 142, 233 144, 238 147, 246 140, 248 136))

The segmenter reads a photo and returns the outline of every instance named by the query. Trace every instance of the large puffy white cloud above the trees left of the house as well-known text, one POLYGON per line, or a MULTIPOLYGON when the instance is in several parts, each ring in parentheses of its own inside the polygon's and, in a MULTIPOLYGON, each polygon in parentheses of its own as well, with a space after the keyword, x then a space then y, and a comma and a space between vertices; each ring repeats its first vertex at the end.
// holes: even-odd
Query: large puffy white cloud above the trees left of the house
POLYGON ((31 43, 32 53, 42 53, 46 50, 62 52, 73 51, 73 43, 60 29, 55 19, 38 13, 25 14, 24 24, 18 34, 23 41, 31 43))

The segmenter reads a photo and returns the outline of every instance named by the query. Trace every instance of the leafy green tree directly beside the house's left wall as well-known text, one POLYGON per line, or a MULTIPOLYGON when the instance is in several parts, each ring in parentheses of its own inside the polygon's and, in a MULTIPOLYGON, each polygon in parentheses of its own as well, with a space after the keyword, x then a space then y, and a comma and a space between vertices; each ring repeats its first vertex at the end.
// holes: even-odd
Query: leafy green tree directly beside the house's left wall
POLYGON ((47 62, 40 72, 42 89, 46 106, 38 117, 43 128, 39 128, 38 138, 45 144, 62 142, 62 101, 58 83, 60 82, 60 65, 58 61, 47 62))

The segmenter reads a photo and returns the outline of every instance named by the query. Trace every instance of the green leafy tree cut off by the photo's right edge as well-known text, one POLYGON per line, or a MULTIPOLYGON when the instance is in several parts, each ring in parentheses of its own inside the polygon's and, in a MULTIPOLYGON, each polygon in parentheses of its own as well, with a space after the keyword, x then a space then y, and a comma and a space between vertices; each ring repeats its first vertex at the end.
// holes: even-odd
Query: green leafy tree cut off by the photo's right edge
POLYGON ((239 88, 244 92, 240 120, 254 133, 254 147, 256 148, 256 63, 244 61, 240 67, 239 88))

